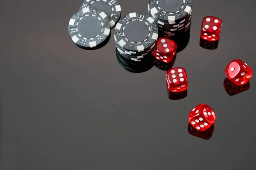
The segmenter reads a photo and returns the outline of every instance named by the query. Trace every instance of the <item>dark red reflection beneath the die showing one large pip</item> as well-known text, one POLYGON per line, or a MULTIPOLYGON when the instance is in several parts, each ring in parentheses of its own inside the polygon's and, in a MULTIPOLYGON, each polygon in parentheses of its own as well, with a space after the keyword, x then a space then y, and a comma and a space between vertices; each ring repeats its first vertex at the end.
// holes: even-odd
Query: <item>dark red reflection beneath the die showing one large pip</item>
POLYGON ((224 79, 224 88, 228 95, 234 96, 236 94, 242 93, 244 91, 247 91, 250 88, 250 82, 247 82, 244 85, 236 85, 233 82, 230 81, 230 79, 226 78, 224 79))

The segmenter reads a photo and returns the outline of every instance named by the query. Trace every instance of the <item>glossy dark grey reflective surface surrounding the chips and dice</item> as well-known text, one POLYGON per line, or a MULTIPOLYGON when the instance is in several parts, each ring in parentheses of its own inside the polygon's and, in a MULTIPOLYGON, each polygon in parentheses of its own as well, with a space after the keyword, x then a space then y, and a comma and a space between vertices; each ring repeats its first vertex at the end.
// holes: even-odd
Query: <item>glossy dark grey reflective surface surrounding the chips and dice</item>
MULTIPOLYGON (((117 62, 114 29, 99 50, 70 40, 80 0, 0 3, 1 170, 241 170, 256 158, 256 79, 235 96, 226 65, 254 70, 255 0, 194 0, 191 37, 174 67, 186 69, 188 96, 169 100, 165 71, 135 74, 117 62), (202 19, 221 18, 216 50, 199 46, 202 19), (209 140, 187 132, 200 103, 216 113, 209 140)), ((148 0, 119 0, 122 16, 147 13, 148 0)))

